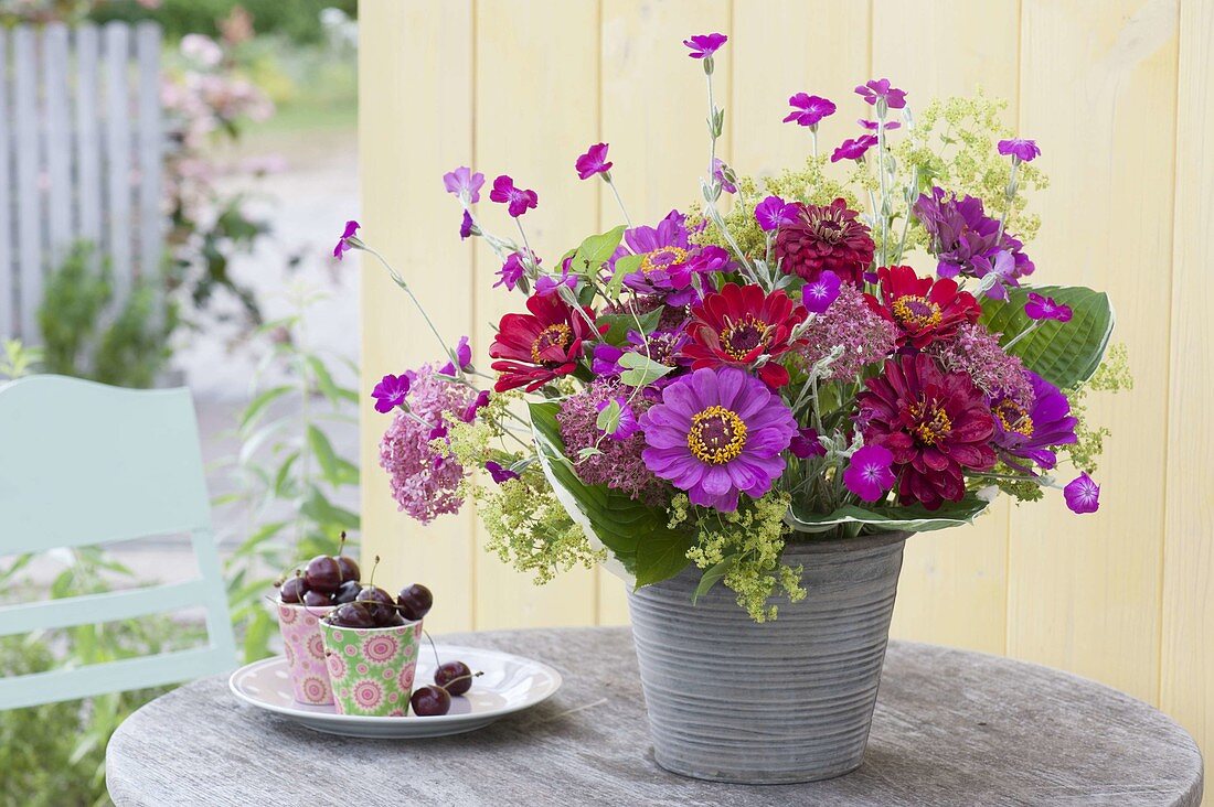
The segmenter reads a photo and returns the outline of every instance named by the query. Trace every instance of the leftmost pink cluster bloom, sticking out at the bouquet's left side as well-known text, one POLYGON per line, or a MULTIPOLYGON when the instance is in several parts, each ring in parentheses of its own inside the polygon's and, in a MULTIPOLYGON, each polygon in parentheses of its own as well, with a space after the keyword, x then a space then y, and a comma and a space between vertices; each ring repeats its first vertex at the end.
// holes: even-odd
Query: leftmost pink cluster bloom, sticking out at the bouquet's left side
POLYGON ((461 417, 472 403, 467 387, 444 381, 433 366, 418 370, 409 387, 409 414, 398 411, 380 441, 380 467, 388 472, 398 508, 422 524, 458 512, 464 504, 456 488, 464 466, 430 445, 443 414, 461 417))

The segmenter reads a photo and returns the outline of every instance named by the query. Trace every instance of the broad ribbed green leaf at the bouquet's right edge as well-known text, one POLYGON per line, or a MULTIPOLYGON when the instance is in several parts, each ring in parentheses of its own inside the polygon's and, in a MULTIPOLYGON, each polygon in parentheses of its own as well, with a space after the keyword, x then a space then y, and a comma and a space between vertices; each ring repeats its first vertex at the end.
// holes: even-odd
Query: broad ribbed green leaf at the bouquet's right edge
POLYGON ((1113 333, 1113 309, 1108 295, 1083 286, 1039 286, 1009 289, 1008 300, 982 302, 980 320, 1003 334, 1004 343, 1023 333, 1033 320, 1025 314, 1025 301, 1034 291, 1071 307, 1070 322, 1044 320, 1008 352, 1019 356, 1033 373, 1056 387, 1073 387, 1087 381, 1100 366, 1113 333))

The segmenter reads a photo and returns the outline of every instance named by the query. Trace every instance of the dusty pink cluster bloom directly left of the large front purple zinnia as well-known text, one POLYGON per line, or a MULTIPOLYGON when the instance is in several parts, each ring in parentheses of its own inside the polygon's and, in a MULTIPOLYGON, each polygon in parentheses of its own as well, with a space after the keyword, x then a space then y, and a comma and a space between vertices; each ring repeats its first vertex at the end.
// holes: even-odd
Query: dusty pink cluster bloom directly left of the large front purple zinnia
MULTIPOLYGON (((646 504, 658 504, 662 500, 663 483, 645 466, 641 451, 645 449, 645 434, 635 431, 624 439, 602 439, 602 431, 595 425, 599 419, 599 405, 617 397, 629 397, 631 390, 613 380, 595 381, 594 385, 567 398, 561 404, 556 420, 561 425, 561 439, 565 441, 565 453, 577 464, 578 477, 586 484, 606 484, 608 488, 623 490, 631 499, 646 504), (579 460, 578 453, 584 448, 597 447, 602 454, 579 460)), ((636 417, 646 411, 652 402, 643 396, 636 396, 629 403, 636 417)))

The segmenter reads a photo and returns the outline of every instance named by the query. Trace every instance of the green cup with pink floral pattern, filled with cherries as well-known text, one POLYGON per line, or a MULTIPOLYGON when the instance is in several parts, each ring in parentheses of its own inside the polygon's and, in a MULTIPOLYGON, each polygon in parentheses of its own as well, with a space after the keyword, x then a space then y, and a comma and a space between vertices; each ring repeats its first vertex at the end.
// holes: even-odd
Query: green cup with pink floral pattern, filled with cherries
POLYGON ((340 715, 404 717, 418 667, 421 623, 335 627, 320 623, 329 681, 340 715))

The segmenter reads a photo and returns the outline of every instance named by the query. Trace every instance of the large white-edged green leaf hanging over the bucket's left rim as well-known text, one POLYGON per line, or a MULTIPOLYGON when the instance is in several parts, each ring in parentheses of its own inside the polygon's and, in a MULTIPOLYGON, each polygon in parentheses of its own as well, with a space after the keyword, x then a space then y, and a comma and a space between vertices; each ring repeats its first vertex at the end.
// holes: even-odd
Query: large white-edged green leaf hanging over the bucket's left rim
POLYGON ((565 458, 565 443, 556 422, 558 404, 545 402, 528 407, 544 474, 569 517, 607 547, 637 585, 679 574, 687 566, 690 536, 683 530, 669 529, 666 515, 660 508, 634 501, 607 485, 584 484, 565 458))

